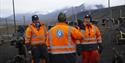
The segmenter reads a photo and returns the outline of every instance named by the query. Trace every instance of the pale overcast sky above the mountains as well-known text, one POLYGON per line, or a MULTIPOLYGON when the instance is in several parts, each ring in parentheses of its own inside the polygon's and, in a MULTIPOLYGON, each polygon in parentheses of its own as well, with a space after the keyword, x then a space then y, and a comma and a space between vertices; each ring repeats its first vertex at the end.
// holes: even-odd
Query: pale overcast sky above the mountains
MULTIPOLYGON (((125 0, 110 0, 111 6, 125 5, 125 0)), ((33 13, 39 11, 46 14, 65 7, 81 4, 103 4, 108 6, 108 0, 15 0, 16 13, 33 13)), ((12 0, 0 0, 0 17, 7 17, 13 13, 12 0)))

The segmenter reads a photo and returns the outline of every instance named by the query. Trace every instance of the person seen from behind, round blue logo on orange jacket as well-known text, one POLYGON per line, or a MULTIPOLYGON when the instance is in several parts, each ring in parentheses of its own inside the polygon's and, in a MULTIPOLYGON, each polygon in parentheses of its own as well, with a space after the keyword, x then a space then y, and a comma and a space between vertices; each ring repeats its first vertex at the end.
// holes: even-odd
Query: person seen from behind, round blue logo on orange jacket
POLYGON ((80 30, 66 24, 66 15, 59 13, 58 23, 47 34, 50 63, 75 63, 77 39, 82 39, 80 30))

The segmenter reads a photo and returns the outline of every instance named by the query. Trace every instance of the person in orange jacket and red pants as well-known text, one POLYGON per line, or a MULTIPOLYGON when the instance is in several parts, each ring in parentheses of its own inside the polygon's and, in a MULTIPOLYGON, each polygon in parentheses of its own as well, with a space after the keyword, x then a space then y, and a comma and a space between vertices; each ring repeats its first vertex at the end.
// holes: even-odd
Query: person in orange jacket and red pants
POLYGON ((84 17, 82 26, 83 39, 80 40, 82 45, 81 54, 83 63, 99 63, 100 53, 102 52, 102 37, 99 28, 91 22, 91 16, 84 17))

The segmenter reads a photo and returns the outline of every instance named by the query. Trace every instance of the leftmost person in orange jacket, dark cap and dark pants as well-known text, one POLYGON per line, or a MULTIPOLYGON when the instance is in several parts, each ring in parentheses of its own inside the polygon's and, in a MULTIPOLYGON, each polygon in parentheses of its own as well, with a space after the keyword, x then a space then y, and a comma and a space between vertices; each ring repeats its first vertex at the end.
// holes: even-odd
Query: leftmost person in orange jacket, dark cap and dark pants
POLYGON ((38 15, 32 16, 32 24, 25 31, 25 44, 28 51, 31 51, 34 63, 47 63, 48 51, 46 47, 47 29, 39 20, 38 15))

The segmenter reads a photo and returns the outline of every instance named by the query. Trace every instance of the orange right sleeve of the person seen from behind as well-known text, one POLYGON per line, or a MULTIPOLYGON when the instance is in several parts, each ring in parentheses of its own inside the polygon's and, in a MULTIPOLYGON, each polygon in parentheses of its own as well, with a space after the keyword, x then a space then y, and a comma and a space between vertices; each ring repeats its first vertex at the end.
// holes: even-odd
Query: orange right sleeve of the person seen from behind
POLYGON ((72 27, 71 36, 75 40, 80 40, 83 38, 82 33, 79 29, 72 27))

